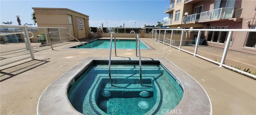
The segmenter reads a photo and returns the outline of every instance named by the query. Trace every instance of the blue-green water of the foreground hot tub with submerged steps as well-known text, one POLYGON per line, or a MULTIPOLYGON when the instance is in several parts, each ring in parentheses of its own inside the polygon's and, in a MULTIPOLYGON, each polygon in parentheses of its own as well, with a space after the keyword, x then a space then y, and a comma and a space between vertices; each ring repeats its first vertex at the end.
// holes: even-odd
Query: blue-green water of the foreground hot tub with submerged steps
POLYGON ((138 65, 111 65, 111 76, 114 86, 108 65, 92 65, 68 91, 70 103, 84 115, 147 115, 174 109, 183 96, 179 82, 159 64, 142 65, 143 86, 138 65))

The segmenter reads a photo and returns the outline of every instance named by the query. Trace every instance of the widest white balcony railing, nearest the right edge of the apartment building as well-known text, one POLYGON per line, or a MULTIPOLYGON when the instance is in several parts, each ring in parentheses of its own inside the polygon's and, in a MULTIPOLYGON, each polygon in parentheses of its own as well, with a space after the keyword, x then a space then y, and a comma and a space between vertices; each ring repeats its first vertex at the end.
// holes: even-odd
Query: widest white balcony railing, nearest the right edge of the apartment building
POLYGON ((215 10, 201 12, 199 21, 212 20, 212 19, 228 19, 228 18, 232 18, 233 14, 234 14, 234 8, 218 8, 215 10))

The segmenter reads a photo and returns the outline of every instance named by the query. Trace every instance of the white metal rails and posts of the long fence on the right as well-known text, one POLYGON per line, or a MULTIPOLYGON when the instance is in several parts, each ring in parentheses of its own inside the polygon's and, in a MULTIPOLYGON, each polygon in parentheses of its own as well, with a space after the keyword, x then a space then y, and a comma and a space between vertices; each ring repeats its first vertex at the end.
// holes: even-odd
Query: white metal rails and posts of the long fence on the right
MULTIPOLYGON (((242 73, 244 75, 252 77, 253 79, 256 79, 256 75, 248 73, 246 71, 242 71, 240 69, 237 69, 236 67, 232 67, 232 65, 227 65, 226 62, 225 62, 226 56, 227 56, 227 53, 228 53, 228 48, 229 48, 230 42, 232 40, 233 33, 234 32, 256 32, 256 29, 153 29, 152 31, 153 31, 153 34, 154 34, 154 35, 152 34, 152 39, 155 40, 155 41, 161 42, 163 44, 166 44, 168 46, 171 46, 173 48, 176 48, 178 50, 186 52, 188 54, 192 54, 193 56, 200 57, 200 58, 205 59, 207 61, 210 61, 212 63, 216 63, 217 65, 219 65, 219 67, 226 67, 228 69, 238 71, 239 73, 242 73), (166 37, 167 36, 166 32, 164 32, 164 35, 160 34, 162 31, 170 31, 170 30, 172 30, 171 35, 168 34, 168 36, 170 36, 170 38, 166 37), (173 31, 181 31, 181 35, 180 34, 175 35, 173 33, 173 31), (184 42, 182 42, 182 41, 183 40, 185 42, 188 41, 187 39, 185 40, 186 37, 184 37, 184 33, 186 34, 186 32, 198 32, 197 33, 198 34, 197 38, 200 38, 201 33, 205 32, 205 31, 208 31, 208 32, 227 32, 227 38, 226 38, 226 41, 225 41, 225 44, 224 44, 223 53, 221 54, 221 56, 219 56, 219 57, 221 57, 220 61, 212 60, 212 59, 210 59, 210 57, 204 57, 204 56, 202 56, 203 54, 202 55, 197 54, 198 46, 199 46, 199 42, 200 42, 199 39, 196 39, 196 41, 195 41, 196 43, 195 43, 194 51, 191 50, 192 48, 191 49, 190 48, 186 49, 186 47, 184 47, 184 48, 182 47, 182 46, 184 46, 184 42), (175 39, 174 39, 174 36, 175 36, 175 39), (176 42, 174 42, 174 40, 176 40, 176 42), (178 42, 180 42, 180 43, 178 43, 178 42)), ((216 55, 216 54, 214 54, 214 55, 216 55)), ((252 65, 252 66, 255 66, 255 65, 252 65)))

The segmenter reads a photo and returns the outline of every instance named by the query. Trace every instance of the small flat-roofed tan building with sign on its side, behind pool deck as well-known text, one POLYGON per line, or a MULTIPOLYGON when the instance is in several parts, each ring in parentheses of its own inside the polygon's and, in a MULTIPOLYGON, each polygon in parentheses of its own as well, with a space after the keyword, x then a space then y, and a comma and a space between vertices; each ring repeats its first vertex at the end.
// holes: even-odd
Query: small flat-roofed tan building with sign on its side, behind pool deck
MULTIPOLYGON (((89 16, 68 8, 32 8, 38 27, 70 28, 77 39, 89 37, 89 16)), ((48 29, 50 31, 58 31, 48 29)), ((67 31, 67 30, 64 30, 67 31)))

